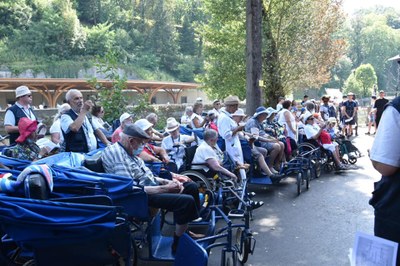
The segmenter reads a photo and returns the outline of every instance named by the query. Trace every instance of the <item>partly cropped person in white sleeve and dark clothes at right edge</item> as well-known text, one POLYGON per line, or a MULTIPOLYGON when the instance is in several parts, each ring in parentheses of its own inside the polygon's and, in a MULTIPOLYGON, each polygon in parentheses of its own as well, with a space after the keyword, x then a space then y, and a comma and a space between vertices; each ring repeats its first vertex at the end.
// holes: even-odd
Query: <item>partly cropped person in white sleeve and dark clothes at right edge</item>
MULTIPOLYGON (((375 235, 400 243, 400 97, 384 108, 381 122, 370 159, 382 178, 375 182, 369 203, 375 209, 375 235)), ((396 265, 400 265, 400 249, 396 265)))

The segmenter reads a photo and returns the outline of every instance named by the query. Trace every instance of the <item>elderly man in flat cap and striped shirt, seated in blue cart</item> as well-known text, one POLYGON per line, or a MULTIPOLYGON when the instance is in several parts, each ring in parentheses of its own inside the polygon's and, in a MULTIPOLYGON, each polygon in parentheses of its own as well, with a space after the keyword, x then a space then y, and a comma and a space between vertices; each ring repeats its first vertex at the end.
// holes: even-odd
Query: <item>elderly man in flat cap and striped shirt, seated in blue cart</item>
MULTIPOLYGON (((180 236, 188 229, 188 223, 199 218, 199 191, 194 182, 182 183, 153 175, 138 157, 149 139, 150 136, 138 125, 126 125, 121 140, 107 147, 102 153, 103 167, 106 173, 131 177, 144 186, 150 207, 174 213, 176 224, 171 248, 175 252, 180 236)), ((203 237, 190 231, 188 233, 193 238, 203 237)))

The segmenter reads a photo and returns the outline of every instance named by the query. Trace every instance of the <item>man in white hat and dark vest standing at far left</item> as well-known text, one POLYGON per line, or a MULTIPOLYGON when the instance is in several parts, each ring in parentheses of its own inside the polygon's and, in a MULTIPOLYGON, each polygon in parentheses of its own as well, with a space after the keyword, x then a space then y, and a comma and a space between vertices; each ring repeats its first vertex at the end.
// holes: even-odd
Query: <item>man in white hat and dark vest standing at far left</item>
POLYGON ((32 110, 32 93, 27 86, 19 86, 15 89, 17 101, 7 109, 4 116, 4 126, 7 134, 10 135, 10 145, 14 145, 19 137, 18 122, 22 117, 37 121, 37 117, 32 110))

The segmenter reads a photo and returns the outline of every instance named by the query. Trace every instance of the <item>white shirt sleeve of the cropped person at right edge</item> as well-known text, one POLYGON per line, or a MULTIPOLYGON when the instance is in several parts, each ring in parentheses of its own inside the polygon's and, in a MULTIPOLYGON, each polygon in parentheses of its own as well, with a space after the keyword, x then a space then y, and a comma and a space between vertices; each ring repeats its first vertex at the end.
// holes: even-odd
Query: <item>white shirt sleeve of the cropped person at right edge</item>
POLYGON ((400 167, 400 114, 392 106, 383 112, 370 151, 371 160, 400 167))

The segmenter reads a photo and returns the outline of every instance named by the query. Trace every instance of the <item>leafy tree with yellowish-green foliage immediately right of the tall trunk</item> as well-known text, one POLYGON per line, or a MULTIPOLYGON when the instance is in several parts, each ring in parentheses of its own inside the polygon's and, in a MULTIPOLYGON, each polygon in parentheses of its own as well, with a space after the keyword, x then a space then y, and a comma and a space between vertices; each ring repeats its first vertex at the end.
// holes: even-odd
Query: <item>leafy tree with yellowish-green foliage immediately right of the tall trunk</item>
POLYGON ((319 87, 344 54, 341 1, 264 0, 265 99, 319 87))

